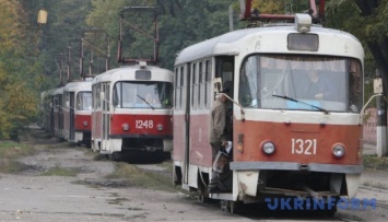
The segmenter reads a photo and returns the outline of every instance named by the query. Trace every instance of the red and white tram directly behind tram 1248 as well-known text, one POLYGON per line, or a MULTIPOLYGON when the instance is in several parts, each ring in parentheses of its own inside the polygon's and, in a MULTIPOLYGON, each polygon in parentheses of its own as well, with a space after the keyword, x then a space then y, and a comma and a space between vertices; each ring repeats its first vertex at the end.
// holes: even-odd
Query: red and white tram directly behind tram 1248
POLYGON ((92 80, 66 84, 63 96, 64 140, 90 145, 92 129, 92 80))

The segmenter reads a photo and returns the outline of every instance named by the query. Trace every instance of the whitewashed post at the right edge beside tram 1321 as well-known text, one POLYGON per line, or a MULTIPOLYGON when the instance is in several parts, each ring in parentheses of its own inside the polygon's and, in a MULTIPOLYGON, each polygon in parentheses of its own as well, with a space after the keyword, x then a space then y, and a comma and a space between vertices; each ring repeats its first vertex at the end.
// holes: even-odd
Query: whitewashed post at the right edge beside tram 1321
MULTIPOLYGON (((377 84, 380 84, 380 90, 383 90, 383 96, 377 96, 377 144, 376 144, 376 153, 378 157, 387 156, 387 102, 385 101, 384 95, 386 95, 386 85, 383 84, 381 77, 376 70, 377 81, 375 81, 374 89, 378 89, 377 84), (378 81, 379 80, 379 81, 378 81)), ((376 92, 375 92, 376 93, 376 92)))

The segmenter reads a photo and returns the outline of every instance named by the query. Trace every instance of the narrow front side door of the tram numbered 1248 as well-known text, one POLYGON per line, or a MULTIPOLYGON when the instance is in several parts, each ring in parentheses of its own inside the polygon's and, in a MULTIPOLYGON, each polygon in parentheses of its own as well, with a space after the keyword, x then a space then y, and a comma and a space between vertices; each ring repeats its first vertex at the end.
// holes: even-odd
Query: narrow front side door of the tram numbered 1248
POLYGON ((103 145, 102 150, 106 151, 108 148, 108 139, 110 131, 110 118, 109 118, 109 83, 103 83, 102 90, 104 96, 102 98, 103 105, 103 145))

